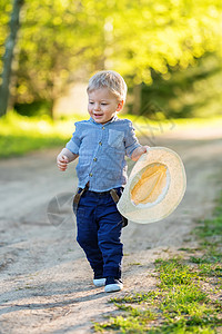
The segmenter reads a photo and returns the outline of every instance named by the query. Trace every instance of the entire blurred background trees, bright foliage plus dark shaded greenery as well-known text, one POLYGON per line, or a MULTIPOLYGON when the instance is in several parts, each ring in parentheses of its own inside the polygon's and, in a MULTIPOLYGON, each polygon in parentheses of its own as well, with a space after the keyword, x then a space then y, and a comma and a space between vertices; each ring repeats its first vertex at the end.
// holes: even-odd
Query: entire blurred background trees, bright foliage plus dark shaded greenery
MULTIPOLYGON (((1 73, 12 4, 0 4, 1 73)), ((154 101, 167 117, 220 114, 221 14, 221 0, 26 0, 9 106, 53 117, 71 84, 113 69, 129 85, 130 112, 152 117, 154 101)))

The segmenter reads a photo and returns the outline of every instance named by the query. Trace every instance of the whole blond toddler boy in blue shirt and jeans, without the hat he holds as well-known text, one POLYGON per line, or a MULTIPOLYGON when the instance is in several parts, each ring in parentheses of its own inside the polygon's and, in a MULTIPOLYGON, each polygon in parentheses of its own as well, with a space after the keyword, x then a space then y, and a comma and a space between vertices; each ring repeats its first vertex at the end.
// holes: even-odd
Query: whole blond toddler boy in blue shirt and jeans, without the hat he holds
POLYGON ((65 170, 79 157, 77 240, 94 272, 94 285, 117 292, 123 287, 123 217, 111 194, 114 190, 120 197, 127 184, 124 156, 137 161, 148 146, 139 144, 130 120, 117 117, 127 97, 127 85, 118 72, 97 72, 87 91, 90 119, 75 122, 75 131, 58 155, 57 164, 65 170))

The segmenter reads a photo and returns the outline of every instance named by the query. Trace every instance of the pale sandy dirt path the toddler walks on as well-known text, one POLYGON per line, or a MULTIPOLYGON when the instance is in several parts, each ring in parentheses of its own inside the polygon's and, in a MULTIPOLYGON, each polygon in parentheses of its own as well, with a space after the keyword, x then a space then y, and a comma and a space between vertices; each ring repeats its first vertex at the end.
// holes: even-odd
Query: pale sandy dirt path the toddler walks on
MULTIPOLYGON (((190 232, 196 219, 211 214, 221 188, 222 139, 186 138, 188 134, 175 134, 157 139, 155 145, 181 155, 188 175, 186 194, 163 222, 130 223, 123 229, 124 289, 112 296, 153 288, 154 259, 176 254, 180 247, 195 246, 190 232)), ((91 269, 74 240, 68 205, 60 212, 60 217, 64 214, 67 218, 62 224, 58 217, 47 216, 50 200, 56 195, 60 202, 69 199, 77 186, 75 163, 61 174, 56 155, 56 150, 49 150, 0 161, 2 334, 91 333, 92 322, 114 310, 107 303, 111 295, 92 285, 91 269)))

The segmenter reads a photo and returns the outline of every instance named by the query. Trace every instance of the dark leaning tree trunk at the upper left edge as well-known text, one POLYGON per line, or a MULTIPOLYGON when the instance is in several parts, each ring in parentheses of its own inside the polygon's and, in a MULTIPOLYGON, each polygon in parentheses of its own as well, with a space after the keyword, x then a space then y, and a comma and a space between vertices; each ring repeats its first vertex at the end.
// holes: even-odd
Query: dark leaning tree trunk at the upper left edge
POLYGON ((19 30, 19 13, 24 0, 14 0, 10 19, 10 35, 6 42, 6 52, 3 56, 2 85, 0 87, 0 116, 6 115, 9 101, 9 86, 11 78, 11 66, 13 60, 13 50, 19 30))

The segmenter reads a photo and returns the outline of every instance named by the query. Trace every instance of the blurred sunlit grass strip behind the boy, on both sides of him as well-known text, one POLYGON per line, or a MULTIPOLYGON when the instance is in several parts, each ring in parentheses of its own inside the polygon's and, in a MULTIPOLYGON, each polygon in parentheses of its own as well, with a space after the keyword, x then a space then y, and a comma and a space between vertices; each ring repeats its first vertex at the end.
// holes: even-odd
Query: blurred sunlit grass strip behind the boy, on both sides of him
MULTIPOLYGON (((211 119, 174 119, 169 124, 163 115, 160 120, 149 120, 144 117, 132 115, 119 115, 120 118, 129 118, 137 124, 135 132, 138 136, 142 134, 153 138, 163 132, 173 130, 173 125, 176 130, 200 127, 211 127, 222 124, 222 117, 211 119)), ((51 148, 62 147, 72 136, 74 130, 74 121, 81 120, 80 115, 73 115, 71 119, 51 120, 47 116, 27 117, 16 112, 9 112, 0 118, 0 158, 21 156, 27 153, 51 148)), ((149 144, 149 143, 148 143, 149 144)))

